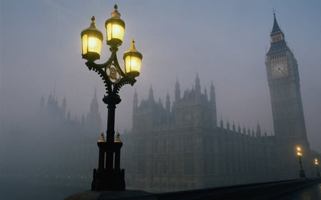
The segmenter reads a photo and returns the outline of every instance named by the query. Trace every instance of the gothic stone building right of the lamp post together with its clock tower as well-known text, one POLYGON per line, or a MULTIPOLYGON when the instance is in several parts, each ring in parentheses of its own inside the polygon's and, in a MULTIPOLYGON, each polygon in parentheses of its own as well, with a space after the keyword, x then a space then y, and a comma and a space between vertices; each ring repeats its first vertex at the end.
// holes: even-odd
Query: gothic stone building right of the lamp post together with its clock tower
POLYGON ((133 129, 122 136, 128 188, 178 191, 296 179, 298 145, 305 152, 307 176, 312 176, 309 163, 318 155, 307 142, 297 61, 275 16, 270 38, 266 70, 275 135, 262 134, 260 125, 246 130, 227 122, 224 127, 222 119, 218 126, 213 83, 208 97, 200 91, 198 75, 183 97, 176 81, 172 107, 169 95, 165 107, 155 102, 152 88, 138 105, 135 91, 133 129))

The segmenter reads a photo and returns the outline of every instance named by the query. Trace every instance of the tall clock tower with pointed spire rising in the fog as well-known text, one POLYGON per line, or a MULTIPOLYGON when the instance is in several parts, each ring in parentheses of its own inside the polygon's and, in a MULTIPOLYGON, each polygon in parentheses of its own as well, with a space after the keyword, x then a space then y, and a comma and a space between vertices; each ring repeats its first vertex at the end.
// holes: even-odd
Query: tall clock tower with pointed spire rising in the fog
MULTIPOLYGON (((302 159, 305 160, 309 157, 310 147, 305 130, 297 60, 285 42, 275 14, 265 65, 272 104, 278 177, 297 178, 299 165, 296 148, 300 146, 303 149, 302 159)), ((304 160, 303 164, 307 164, 304 160)))

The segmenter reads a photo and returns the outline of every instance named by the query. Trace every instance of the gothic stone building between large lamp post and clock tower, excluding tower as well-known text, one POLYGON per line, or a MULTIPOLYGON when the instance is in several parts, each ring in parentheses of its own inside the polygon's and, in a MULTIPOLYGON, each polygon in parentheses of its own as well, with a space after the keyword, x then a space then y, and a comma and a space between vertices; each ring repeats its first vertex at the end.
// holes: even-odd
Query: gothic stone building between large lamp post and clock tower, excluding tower
POLYGON ((135 92, 133 130, 122 139, 130 188, 173 191, 272 180, 275 137, 262 135, 260 125, 251 131, 234 122, 223 127, 220 120, 218 127, 213 83, 208 97, 198 75, 183 98, 176 81, 171 109, 169 95, 163 107, 151 88, 138 106, 135 92))

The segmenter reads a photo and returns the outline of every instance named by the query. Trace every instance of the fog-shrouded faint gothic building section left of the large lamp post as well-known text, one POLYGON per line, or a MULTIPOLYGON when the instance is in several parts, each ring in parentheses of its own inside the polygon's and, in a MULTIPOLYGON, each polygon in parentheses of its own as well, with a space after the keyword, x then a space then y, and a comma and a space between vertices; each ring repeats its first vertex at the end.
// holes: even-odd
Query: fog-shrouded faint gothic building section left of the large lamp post
POLYGON ((71 117, 66 98, 59 102, 54 93, 41 98, 38 111, 28 115, 28 125, 13 124, 3 132, 5 151, 0 153, 6 162, 0 175, 90 182, 102 132, 96 91, 86 119, 71 117))

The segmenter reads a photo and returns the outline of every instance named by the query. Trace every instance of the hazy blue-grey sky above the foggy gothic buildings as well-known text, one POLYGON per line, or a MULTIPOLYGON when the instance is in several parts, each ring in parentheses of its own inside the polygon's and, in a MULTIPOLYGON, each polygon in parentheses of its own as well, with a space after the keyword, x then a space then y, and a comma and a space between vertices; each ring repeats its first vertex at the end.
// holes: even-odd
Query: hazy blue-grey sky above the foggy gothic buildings
MULTIPOLYGON (((72 117, 86 114, 97 87, 103 129, 106 107, 103 81, 86 68, 81 58, 83 28, 96 16, 103 31, 113 5, 126 23, 123 46, 132 38, 143 53, 141 75, 134 87, 121 89, 116 127, 131 129, 134 88, 138 100, 174 98, 175 80, 181 93, 200 77, 201 90, 213 80, 220 117, 245 127, 260 123, 273 132, 270 92, 265 72, 265 53, 270 48, 275 9, 287 45, 300 71, 307 135, 311 147, 321 152, 321 1, 16 1, 1 0, 1 122, 23 123, 28 112, 56 91, 61 104, 66 97, 72 117), (56 87, 55 87, 56 85, 56 87), (56 90, 55 90, 56 88, 56 90)), ((110 53, 103 45, 101 60, 110 53)), ((3 124, 2 124, 3 125, 3 124)), ((95 133, 93 133, 95 134, 95 133)), ((98 137, 99 133, 97 133, 98 137)))

